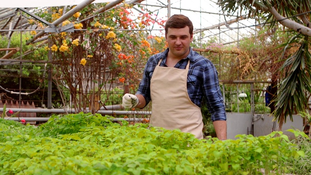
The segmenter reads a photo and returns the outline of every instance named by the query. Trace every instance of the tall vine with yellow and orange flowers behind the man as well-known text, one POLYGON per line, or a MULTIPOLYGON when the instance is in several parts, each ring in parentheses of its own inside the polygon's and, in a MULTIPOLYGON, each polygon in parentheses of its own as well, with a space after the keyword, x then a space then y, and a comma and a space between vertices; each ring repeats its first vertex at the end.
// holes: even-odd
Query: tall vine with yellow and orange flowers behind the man
MULTIPOLYGON (((75 32, 50 36, 52 46, 45 49, 53 53, 53 79, 58 87, 66 84, 72 107, 77 111, 89 107, 95 112, 99 109, 96 99, 105 104, 108 99, 103 100, 100 96, 108 94, 111 86, 108 84, 124 83, 132 90, 137 88, 147 59, 165 49, 163 37, 140 31, 155 23, 163 25, 164 20, 155 20, 156 16, 151 12, 141 13, 135 19, 131 8, 131 5, 125 5, 76 23, 77 18, 85 18, 94 11, 91 6, 85 7, 61 24, 73 23, 75 32), (103 73, 108 71, 109 74, 103 73)), ((51 10, 52 15, 46 15, 53 21, 61 17, 64 9, 55 7, 51 10)))

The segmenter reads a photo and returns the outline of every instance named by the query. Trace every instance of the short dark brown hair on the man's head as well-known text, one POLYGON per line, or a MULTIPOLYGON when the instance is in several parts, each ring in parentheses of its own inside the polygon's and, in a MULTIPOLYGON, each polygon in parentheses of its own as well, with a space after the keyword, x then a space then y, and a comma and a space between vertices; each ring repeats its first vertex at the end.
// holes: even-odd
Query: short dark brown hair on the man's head
POLYGON ((182 29, 184 27, 189 27, 190 35, 193 34, 193 25, 190 19, 184 15, 173 15, 166 21, 165 24, 165 35, 168 33, 169 28, 182 29))

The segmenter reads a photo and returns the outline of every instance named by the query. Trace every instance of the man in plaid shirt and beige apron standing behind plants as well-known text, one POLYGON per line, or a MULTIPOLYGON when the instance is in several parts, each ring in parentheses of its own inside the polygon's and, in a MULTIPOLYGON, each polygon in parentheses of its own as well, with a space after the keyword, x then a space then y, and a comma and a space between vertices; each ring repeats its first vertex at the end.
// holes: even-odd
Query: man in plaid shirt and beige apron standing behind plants
POLYGON ((214 65, 192 51, 193 25, 184 15, 173 15, 165 24, 169 48, 151 56, 136 95, 125 94, 125 108, 145 107, 152 100, 150 124, 180 129, 203 139, 201 102, 207 107, 220 140, 226 139, 225 105, 214 65))

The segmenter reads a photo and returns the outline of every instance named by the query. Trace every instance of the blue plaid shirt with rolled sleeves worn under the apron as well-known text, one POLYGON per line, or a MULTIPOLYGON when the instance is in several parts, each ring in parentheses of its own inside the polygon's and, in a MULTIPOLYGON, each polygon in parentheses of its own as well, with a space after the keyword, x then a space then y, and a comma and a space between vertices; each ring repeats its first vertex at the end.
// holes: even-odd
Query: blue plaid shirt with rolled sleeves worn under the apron
MULTIPOLYGON (((158 62, 162 58, 160 66, 167 67, 165 62, 169 49, 163 53, 152 55, 145 66, 142 80, 139 84, 137 94, 145 97, 146 105, 152 100, 150 95, 150 80, 158 62)), ((207 109, 211 114, 211 120, 225 121, 225 105, 220 91, 218 73, 210 60, 190 48, 187 58, 180 60, 174 68, 186 69, 190 59, 187 79, 187 90, 193 104, 201 107, 202 99, 207 99, 207 109)))

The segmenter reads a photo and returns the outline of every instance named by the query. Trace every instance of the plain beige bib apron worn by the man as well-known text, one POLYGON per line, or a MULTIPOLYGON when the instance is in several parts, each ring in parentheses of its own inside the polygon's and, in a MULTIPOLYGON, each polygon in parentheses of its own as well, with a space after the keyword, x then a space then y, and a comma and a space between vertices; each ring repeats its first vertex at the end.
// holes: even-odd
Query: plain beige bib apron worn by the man
POLYGON ((160 67, 162 59, 155 67, 150 90, 152 114, 150 124, 166 129, 180 129, 203 139, 201 109, 193 104, 187 91, 187 77, 190 60, 185 70, 160 67))

